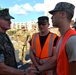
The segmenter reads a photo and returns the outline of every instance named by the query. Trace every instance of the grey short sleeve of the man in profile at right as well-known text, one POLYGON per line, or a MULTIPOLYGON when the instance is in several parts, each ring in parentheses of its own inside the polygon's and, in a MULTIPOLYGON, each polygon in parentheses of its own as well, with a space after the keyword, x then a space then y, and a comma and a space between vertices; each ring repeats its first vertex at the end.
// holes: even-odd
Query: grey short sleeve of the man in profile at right
POLYGON ((71 36, 66 43, 66 53, 69 62, 76 61, 76 35, 71 36))

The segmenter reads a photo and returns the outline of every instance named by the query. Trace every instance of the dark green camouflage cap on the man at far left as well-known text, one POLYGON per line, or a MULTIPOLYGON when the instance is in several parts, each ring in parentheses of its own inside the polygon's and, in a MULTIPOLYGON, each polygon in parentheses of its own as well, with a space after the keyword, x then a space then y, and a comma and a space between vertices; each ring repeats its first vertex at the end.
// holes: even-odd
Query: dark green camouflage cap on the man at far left
POLYGON ((2 19, 14 19, 14 17, 12 17, 9 14, 9 9, 8 8, 0 10, 0 18, 2 18, 2 19))

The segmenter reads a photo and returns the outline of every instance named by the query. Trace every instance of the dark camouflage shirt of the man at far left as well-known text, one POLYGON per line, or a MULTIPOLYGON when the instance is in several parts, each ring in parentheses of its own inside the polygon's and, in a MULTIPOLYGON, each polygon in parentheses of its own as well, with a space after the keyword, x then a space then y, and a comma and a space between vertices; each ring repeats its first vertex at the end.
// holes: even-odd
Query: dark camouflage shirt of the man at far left
POLYGON ((10 67, 17 68, 14 47, 6 33, 0 32, 0 62, 10 67))

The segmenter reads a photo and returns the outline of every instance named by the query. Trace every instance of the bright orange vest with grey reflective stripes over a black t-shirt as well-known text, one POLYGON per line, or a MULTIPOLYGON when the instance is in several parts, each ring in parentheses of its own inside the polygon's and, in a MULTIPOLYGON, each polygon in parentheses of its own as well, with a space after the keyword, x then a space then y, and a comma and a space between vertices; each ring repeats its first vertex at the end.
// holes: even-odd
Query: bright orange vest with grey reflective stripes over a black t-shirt
MULTIPOLYGON (((40 65, 43 65, 49 58, 52 57, 53 44, 56 37, 56 34, 50 32, 43 48, 41 49, 39 33, 36 33, 32 36, 32 49, 35 54, 35 58, 40 65)), ((51 75, 51 72, 47 71, 46 75, 51 75)))

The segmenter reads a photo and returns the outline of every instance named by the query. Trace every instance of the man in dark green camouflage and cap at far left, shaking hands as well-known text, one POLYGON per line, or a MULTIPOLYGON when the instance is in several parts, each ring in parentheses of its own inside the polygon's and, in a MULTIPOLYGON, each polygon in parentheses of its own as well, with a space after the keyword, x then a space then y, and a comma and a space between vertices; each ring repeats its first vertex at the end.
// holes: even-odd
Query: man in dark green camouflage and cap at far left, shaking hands
POLYGON ((26 75, 25 70, 17 69, 15 49, 6 34, 10 29, 11 19, 14 17, 9 14, 8 8, 0 9, 0 75, 26 75))

